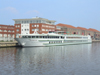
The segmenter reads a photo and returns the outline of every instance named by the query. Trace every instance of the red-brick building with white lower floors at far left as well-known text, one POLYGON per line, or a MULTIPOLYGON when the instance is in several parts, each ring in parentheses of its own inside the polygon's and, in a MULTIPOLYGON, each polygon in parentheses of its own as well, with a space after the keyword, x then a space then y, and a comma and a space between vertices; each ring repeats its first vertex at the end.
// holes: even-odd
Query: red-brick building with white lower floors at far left
POLYGON ((0 41, 13 41, 15 30, 13 25, 0 24, 0 41))

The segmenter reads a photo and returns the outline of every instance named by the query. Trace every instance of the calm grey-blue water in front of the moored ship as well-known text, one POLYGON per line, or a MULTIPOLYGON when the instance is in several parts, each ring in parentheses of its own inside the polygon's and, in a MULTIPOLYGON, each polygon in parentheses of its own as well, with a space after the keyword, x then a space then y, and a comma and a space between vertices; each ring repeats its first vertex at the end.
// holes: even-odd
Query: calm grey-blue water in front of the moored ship
POLYGON ((0 75, 100 75, 100 42, 0 48, 0 75))

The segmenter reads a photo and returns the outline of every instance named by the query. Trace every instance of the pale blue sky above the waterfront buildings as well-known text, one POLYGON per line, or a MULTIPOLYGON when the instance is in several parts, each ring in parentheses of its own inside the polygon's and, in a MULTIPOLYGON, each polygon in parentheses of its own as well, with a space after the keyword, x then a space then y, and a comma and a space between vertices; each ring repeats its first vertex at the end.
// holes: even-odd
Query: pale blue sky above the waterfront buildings
POLYGON ((36 16, 100 31, 100 0, 0 0, 0 24, 36 16))

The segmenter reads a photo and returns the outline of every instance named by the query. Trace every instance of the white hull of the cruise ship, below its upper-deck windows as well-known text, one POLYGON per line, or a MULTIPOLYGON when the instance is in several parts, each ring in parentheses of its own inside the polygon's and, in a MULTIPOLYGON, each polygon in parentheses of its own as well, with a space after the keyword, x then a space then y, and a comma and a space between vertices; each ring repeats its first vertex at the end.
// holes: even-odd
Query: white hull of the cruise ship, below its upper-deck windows
POLYGON ((54 46, 54 45, 69 45, 69 44, 84 44, 91 43, 91 39, 26 39, 26 38, 15 38, 18 44, 23 47, 39 47, 39 46, 54 46))

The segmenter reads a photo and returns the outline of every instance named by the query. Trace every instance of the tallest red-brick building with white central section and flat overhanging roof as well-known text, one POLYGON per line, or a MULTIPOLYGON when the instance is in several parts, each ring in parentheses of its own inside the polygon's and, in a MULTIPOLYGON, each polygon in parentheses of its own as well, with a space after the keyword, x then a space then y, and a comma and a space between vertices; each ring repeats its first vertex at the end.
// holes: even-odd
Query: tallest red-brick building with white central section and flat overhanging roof
POLYGON ((46 34, 48 31, 55 31, 54 20, 48 20, 40 17, 31 19, 13 19, 15 21, 15 33, 17 34, 33 34, 35 30, 39 34, 46 34))

